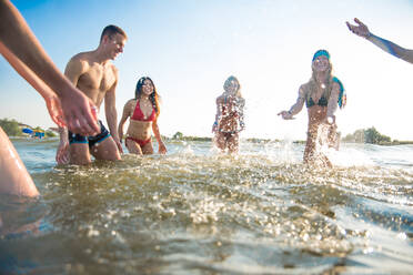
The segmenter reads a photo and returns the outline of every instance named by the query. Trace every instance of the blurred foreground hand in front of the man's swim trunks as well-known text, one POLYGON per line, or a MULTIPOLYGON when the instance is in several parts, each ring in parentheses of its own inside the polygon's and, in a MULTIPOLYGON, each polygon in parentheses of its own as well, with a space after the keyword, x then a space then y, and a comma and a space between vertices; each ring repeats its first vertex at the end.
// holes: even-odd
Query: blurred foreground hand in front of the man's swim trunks
POLYGON ((60 96, 68 129, 72 133, 85 136, 98 134, 100 128, 94 104, 74 86, 68 89, 69 91, 61 93, 60 96))

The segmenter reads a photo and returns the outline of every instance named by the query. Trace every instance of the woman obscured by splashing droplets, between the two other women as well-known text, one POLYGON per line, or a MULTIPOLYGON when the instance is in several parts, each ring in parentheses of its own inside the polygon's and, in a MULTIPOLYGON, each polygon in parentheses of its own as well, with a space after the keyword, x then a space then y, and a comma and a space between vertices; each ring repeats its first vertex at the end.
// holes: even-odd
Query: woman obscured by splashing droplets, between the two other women
POLYGON ((241 95, 241 85, 235 77, 226 79, 224 92, 216 99, 216 115, 212 126, 215 145, 230 153, 238 152, 239 133, 244 130, 245 100, 241 95))

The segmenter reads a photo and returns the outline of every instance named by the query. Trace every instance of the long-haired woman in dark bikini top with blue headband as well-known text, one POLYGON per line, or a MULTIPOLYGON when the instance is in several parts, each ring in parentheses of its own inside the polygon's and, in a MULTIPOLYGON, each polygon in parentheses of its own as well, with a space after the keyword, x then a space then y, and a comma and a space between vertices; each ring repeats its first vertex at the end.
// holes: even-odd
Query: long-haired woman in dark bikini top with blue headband
POLYGON ((330 53, 326 50, 315 52, 312 60, 312 77, 309 82, 302 84, 299 98, 289 111, 279 113, 284 120, 293 119, 304 103, 309 113, 309 129, 304 150, 304 162, 315 163, 321 161, 322 165, 332 166, 329 159, 318 152, 318 143, 326 143, 333 146, 336 143, 336 124, 334 112, 345 105, 344 88, 341 81, 332 75, 330 53))

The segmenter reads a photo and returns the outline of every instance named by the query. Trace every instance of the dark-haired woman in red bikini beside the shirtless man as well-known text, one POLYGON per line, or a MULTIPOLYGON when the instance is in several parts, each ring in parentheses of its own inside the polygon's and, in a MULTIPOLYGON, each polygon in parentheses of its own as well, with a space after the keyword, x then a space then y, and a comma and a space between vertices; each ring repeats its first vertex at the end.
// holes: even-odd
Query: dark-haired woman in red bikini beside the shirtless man
POLYGON ((132 154, 153 154, 151 129, 158 141, 159 153, 167 153, 157 123, 160 113, 159 95, 153 81, 143 77, 138 81, 135 98, 128 101, 119 122, 119 139, 123 138, 123 124, 130 119, 124 143, 132 154))

